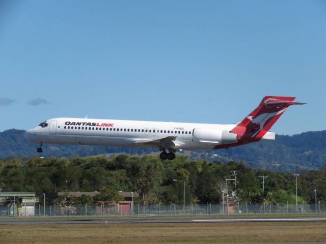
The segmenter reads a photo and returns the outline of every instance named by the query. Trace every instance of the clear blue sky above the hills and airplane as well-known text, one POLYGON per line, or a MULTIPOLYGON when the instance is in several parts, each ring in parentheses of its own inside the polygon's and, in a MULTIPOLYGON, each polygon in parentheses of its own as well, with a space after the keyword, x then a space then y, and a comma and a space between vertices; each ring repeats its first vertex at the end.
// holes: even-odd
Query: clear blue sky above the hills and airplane
POLYGON ((0 131, 53 117, 235 123, 294 96, 271 131, 325 130, 323 1, 2 1, 0 131))

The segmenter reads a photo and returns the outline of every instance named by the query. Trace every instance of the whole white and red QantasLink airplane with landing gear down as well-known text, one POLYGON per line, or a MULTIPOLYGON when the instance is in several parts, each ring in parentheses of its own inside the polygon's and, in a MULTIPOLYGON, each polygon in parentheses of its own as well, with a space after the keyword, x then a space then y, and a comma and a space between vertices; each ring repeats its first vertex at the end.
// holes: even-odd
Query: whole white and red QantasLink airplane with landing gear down
POLYGON ((228 125, 158 121, 51 118, 25 132, 24 137, 40 143, 130 146, 157 148, 162 160, 175 159, 177 150, 207 150, 275 140, 271 126, 294 102, 295 97, 266 96, 240 122, 228 125))

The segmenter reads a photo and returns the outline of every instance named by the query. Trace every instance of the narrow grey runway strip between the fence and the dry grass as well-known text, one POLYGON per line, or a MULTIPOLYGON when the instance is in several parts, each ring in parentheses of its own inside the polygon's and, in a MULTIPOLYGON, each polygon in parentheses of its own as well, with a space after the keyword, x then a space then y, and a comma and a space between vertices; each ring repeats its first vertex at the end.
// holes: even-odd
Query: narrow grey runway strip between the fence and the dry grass
POLYGON ((126 224, 126 223, 231 223, 231 222, 317 222, 326 218, 289 218, 289 219, 129 219, 129 220, 10 220, 0 221, 0 225, 20 224, 126 224))

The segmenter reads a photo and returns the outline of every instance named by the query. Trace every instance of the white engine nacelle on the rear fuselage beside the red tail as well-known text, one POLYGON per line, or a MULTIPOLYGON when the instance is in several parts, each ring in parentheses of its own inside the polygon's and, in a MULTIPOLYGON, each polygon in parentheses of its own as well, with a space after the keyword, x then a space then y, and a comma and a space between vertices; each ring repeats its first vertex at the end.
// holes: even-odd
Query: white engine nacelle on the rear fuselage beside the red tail
POLYGON ((193 132, 193 141, 207 144, 231 144, 236 143, 237 134, 229 131, 196 128, 193 132))

